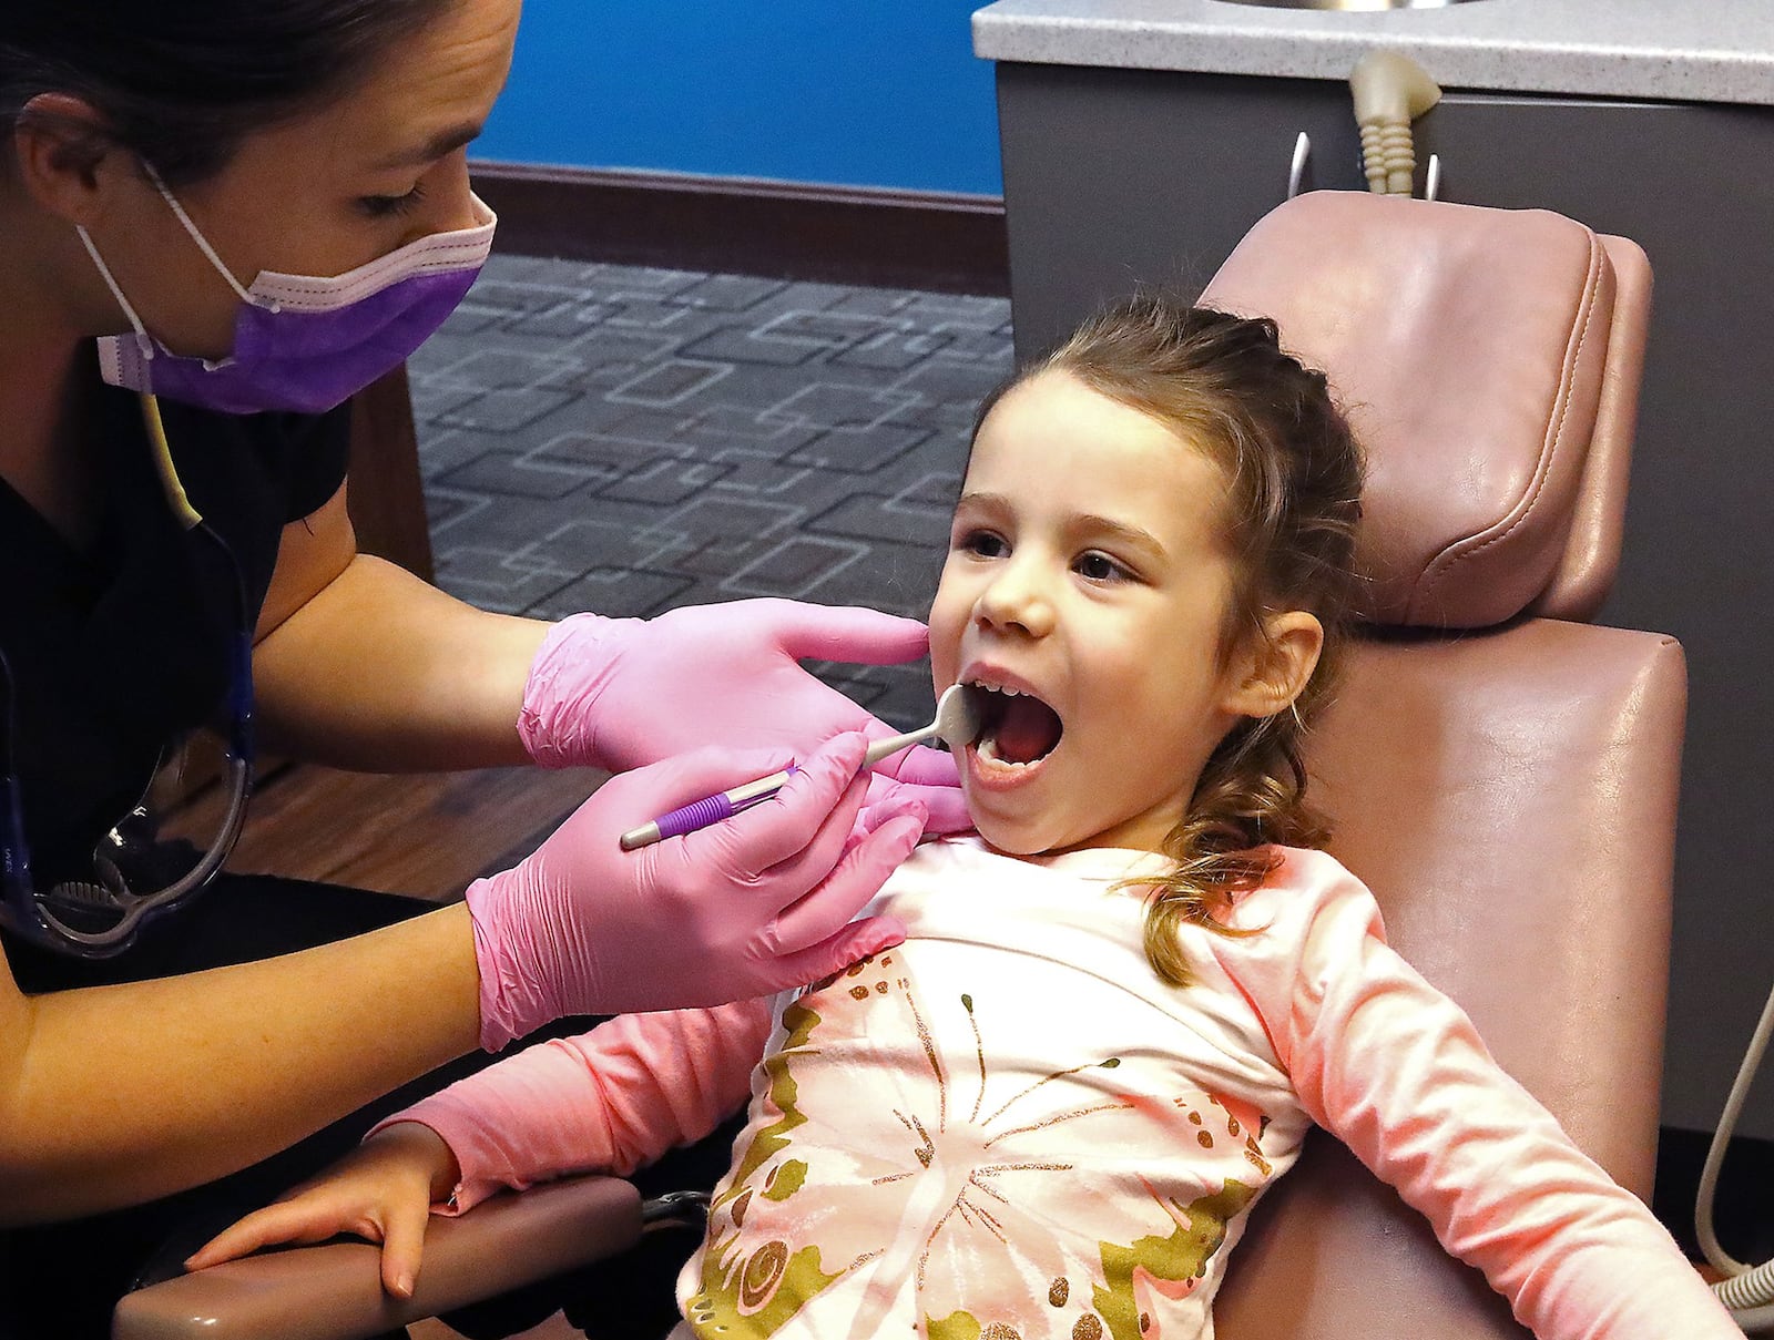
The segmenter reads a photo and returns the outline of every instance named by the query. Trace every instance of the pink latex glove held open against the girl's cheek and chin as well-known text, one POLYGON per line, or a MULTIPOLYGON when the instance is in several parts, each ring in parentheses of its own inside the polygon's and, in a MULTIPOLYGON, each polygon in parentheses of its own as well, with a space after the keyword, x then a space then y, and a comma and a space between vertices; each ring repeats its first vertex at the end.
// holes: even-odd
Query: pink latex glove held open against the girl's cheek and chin
MULTIPOLYGON (((518 734, 543 767, 626 771, 704 744, 811 752, 841 730, 899 734, 800 661, 899 665, 930 645, 915 619, 857 606, 731 601, 655 619, 573 615, 543 640, 518 734)), ((954 759, 912 748, 876 766, 869 799, 912 794, 930 831, 972 828, 954 759)))

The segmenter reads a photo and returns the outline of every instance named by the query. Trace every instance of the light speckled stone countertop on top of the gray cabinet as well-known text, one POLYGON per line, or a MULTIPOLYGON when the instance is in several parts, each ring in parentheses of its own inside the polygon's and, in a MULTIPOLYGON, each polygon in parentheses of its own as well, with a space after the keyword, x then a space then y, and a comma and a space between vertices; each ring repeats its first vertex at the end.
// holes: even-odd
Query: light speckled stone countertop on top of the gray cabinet
POLYGON ((988 60, 1345 80, 1403 51, 1446 89, 1774 106, 1770 0, 1474 0, 1325 12, 1229 0, 997 0, 988 60))

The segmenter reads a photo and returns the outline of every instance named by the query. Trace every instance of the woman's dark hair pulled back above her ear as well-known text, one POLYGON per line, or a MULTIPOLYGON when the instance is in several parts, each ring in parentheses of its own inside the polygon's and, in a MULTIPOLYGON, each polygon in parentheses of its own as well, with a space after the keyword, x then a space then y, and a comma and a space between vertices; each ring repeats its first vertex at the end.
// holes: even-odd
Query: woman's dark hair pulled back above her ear
POLYGON ((4 0, 0 128, 11 140, 32 97, 71 94, 170 186, 202 181, 243 138, 351 87, 454 4, 4 0))

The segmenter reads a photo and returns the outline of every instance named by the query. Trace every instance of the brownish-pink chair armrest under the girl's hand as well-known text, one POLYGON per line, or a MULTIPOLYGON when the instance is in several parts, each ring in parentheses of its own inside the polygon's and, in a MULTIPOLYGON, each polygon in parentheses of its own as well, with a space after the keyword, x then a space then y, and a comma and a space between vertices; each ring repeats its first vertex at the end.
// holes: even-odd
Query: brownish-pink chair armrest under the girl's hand
POLYGON ((130 1294, 112 1340, 357 1340, 584 1266, 640 1237, 640 1193, 614 1177, 498 1195, 431 1219, 419 1289, 381 1289, 371 1243, 268 1251, 130 1294))

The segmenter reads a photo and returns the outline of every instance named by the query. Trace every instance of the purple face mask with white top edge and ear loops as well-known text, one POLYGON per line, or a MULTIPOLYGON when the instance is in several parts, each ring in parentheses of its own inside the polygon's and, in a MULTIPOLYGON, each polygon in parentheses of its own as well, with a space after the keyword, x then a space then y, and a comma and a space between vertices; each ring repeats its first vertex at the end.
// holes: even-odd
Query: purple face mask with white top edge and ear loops
POLYGON ((135 328, 133 339, 99 340, 99 370, 112 386, 231 415, 321 413, 403 363, 461 303, 486 264, 498 222, 474 197, 481 223, 472 229, 435 232, 335 278, 261 271, 243 289, 153 168, 149 175, 192 241, 239 294, 234 347, 220 360, 188 358, 153 339, 80 229, 80 241, 135 328))

